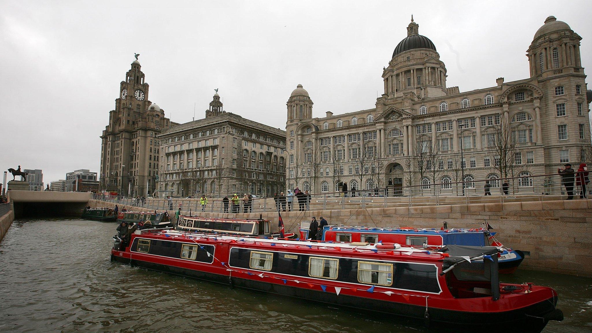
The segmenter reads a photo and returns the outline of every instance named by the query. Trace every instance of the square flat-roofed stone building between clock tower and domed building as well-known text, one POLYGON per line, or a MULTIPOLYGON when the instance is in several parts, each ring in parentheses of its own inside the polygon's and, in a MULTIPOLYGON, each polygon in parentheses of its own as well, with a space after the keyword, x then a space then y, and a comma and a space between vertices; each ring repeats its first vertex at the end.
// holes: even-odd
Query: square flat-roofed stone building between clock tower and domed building
POLYGON ((226 112, 216 93, 205 118, 163 130, 159 196, 271 196, 285 185, 285 132, 226 112))

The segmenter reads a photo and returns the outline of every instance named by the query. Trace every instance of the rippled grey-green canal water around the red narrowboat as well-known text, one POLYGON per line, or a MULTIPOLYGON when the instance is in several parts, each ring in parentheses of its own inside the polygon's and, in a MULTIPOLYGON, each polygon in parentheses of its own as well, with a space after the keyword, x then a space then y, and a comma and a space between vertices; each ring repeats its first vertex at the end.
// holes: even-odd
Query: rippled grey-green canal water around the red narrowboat
MULTIPOLYGON (((17 220, 0 243, 0 332, 429 332, 384 315, 234 290, 110 261, 117 223, 17 220)), ((592 279, 518 270, 552 286, 563 322, 592 332, 592 279)))

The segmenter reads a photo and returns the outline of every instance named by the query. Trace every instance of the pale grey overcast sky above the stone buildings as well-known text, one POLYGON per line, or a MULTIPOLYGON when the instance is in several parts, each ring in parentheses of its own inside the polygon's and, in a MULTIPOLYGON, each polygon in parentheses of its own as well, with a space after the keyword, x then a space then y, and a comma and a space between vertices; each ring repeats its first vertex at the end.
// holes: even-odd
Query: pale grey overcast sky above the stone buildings
POLYGON ((298 84, 315 117, 373 108, 411 14, 448 87, 470 91, 527 78, 526 50, 549 15, 583 37, 587 68, 590 12, 590 1, 0 0, 0 168, 43 169, 46 183, 99 172, 99 136, 134 53, 172 121, 191 121, 194 105, 203 118, 219 88, 226 111, 285 129, 298 84))

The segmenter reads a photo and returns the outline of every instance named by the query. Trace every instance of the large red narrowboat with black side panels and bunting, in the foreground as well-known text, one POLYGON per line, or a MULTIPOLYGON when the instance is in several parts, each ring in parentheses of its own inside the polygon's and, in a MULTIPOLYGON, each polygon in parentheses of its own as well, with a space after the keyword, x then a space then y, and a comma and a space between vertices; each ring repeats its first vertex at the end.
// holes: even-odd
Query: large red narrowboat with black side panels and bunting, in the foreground
POLYGON ((111 260, 233 287, 416 319, 453 332, 540 332, 561 321, 550 287, 498 281, 494 246, 439 251, 136 230, 111 260))

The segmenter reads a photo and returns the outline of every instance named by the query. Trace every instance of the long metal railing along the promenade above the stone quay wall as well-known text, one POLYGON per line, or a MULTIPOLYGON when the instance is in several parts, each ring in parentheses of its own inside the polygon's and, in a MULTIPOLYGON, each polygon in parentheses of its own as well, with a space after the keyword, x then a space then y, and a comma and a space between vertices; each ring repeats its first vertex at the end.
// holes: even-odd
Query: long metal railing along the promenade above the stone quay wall
MULTIPOLYGON (((575 178, 578 177, 576 172, 575 178)), ((574 197, 582 195, 583 188, 574 181, 574 197)), ((348 190, 345 193, 323 192, 304 197, 302 202, 297 196, 262 197, 249 201, 239 197, 239 203, 233 204, 231 197, 227 204, 221 198, 208 198, 207 204, 201 205, 200 198, 130 198, 94 194, 95 200, 118 204, 119 210, 125 206, 141 207, 145 210, 177 210, 199 214, 200 212, 217 213, 261 213, 274 211, 333 210, 380 207, 412 207, 442 204, 469 203, 504 203, 519 201, 561 200, 567 196, 567 190, 558 174, 528 175, 502 179, 484 179, 457 182, 439 182, 411 186, 373 188, 371 190, 348 190), (485 182, 489 181, 490 194, 485 195, 485 182), (503 186, 507 182, 507 188, 503 186), (308 199, 308 200, 307 200, 308 199)))

